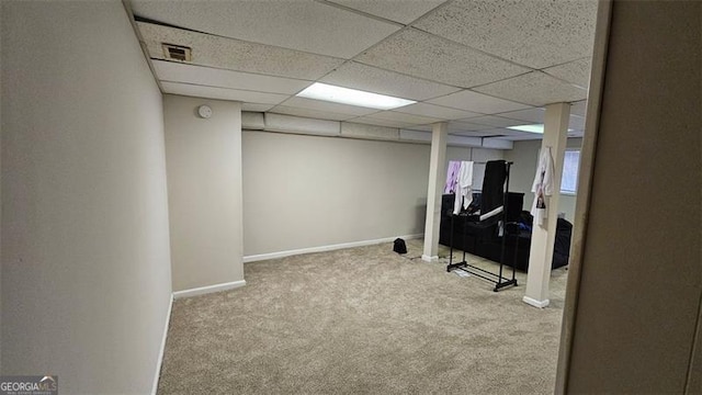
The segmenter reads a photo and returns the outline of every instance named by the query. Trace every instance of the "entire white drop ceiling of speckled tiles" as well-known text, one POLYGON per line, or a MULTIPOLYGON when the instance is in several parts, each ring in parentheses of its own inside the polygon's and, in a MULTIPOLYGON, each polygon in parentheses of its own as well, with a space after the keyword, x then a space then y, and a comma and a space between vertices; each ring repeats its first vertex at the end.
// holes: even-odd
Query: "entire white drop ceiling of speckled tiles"
POLYGON ((245 111, 508 140, 573 103, 581 136, 596 0, 233 0, 129 2, 165 93, 245 111), (192 48, 168 59, 162 44, 192 48), (319 81, 416 104, 378 111, 295 94, 319 81))

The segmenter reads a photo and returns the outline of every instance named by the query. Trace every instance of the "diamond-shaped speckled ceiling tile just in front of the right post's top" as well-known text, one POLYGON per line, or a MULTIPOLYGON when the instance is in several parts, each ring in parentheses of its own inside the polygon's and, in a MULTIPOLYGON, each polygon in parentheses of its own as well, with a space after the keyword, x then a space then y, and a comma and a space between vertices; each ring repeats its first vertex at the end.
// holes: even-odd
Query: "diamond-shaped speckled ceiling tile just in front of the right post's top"
POLYGON ((582 100, 588 94, 588 91, 582 88, 563 82, 541 71, 488 83, 475 90, 537 106, 582 100))

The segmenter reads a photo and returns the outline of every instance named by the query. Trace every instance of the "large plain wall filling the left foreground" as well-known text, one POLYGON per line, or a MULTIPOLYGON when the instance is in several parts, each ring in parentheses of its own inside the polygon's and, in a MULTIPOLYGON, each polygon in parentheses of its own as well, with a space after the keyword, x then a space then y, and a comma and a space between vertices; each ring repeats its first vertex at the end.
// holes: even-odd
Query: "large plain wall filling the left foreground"
POLYGON ((149 393, 171 294, 161 94, 120 1, 3 1, 2 40, 2 373, 149 393))

